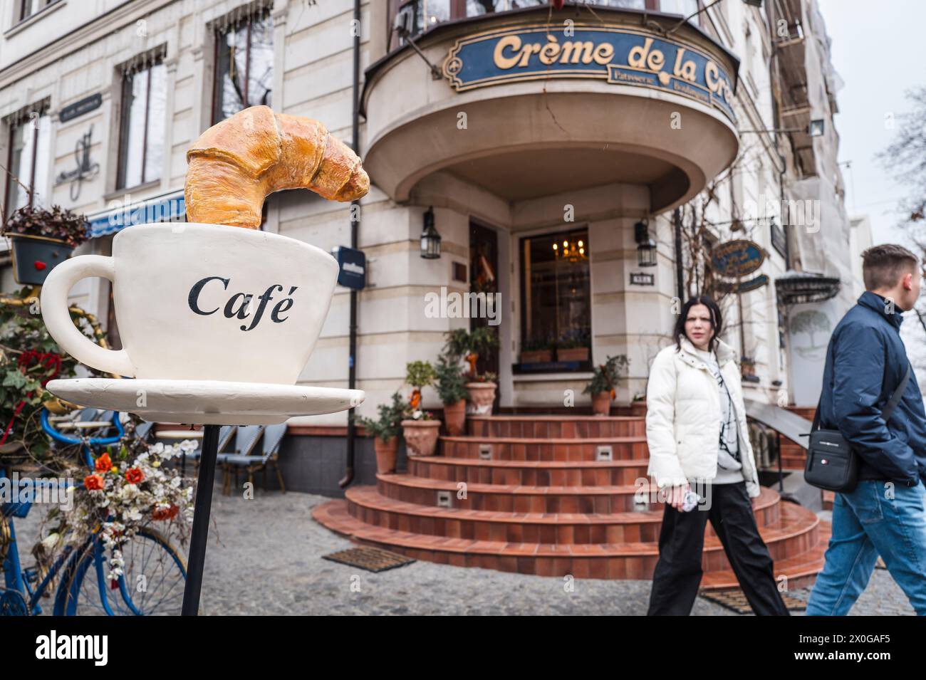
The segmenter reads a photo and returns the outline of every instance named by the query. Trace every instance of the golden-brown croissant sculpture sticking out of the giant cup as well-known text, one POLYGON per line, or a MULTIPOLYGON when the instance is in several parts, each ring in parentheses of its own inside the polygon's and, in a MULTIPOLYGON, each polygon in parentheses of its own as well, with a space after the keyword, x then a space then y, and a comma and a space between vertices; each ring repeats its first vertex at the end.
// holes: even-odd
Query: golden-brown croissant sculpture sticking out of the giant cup
POLYGON ((318 120, 250 106, 203 132, 186 152, 191 222, 259 229, 269 193, 308 189, 329 201, 369 192, 354 151, 318 120))

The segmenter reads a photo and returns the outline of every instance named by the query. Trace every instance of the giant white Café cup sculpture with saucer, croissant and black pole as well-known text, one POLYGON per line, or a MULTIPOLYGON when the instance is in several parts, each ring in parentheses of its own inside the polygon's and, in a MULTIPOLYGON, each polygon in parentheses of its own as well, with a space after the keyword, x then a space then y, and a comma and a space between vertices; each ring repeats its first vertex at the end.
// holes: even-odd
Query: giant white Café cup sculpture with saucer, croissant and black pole
POLYGON ((360 159, 321 123, 252 106, 203 133, 187 151, 190 222, 129 227, 112 256, 56 266, 42 316, 83 364, 134 379, 51 380, 57 397, 206 426, 183 613, 199 609, 219 425, 269 425, 357 406, 359 389, 296 385, 328 315, 338 265, 303 241, 259 229, 265 197, 306 188, 333 201, 369 191, 360 159), (112 281, 123 349, 87 339, 69 314, 81 278, 112 281))

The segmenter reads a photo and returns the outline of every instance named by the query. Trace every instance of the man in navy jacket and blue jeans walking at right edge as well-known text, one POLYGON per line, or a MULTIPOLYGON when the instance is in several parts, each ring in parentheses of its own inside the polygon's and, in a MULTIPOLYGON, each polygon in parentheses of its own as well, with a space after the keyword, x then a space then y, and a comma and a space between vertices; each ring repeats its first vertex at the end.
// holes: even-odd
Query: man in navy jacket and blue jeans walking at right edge
POLYGON ((820 427, 838 428, 852 445, 859 481, 832 503, 832 538, 807 615, 848 613, 879 554, 926 615, 926 413, 912 367, 890 420, 881 415, 907 371, 901 313, 920 296, 920 264, 893 244, 862 258, 866 291, 832 332, 820 398, 820 427))

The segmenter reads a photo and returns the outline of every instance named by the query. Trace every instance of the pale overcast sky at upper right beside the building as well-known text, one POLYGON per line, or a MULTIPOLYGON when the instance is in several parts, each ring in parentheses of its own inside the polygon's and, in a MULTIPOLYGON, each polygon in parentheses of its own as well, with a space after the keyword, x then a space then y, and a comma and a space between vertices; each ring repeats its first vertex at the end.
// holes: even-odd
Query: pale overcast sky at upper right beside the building
POLYGON ((900 185, 874 155, 894 139, 885 116, 908 110, 904 92, 926 84, 926 0, 818 0, 832 39, 832 63, 845 81, 837 93, 839 160, 845 209, 871 217, 876 243, 897 241, 900 185))

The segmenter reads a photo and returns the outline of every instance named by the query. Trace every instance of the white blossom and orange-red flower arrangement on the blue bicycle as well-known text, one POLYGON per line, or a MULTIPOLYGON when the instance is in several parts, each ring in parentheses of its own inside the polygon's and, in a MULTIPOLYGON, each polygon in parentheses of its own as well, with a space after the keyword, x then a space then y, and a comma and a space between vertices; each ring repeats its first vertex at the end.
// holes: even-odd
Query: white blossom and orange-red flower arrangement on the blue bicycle
POLYGON ((164 464, 195 451, 198 444, 193 439, 169 445, 128 441, 115 454, 112 447, 106 447, 94 460, 90 474, 82 465, 64 471, 64 476, 82 478, 82 483, 73 488, 69 509, 56 507, 45 517, 44 524, 56 521, 56 526, 33 550, 39 563, 53 563, 59 550, 81 546, 99 531, 108 550, 107 578, 115 581, 124 565, 120 548, 142 526, 169 521, 181 542, 185 541, 193 522, 193 480, 164 464))

